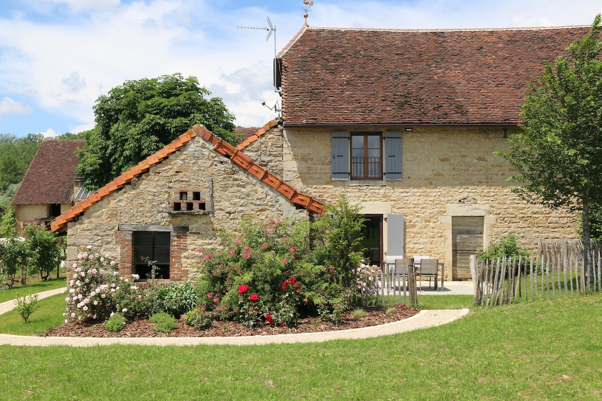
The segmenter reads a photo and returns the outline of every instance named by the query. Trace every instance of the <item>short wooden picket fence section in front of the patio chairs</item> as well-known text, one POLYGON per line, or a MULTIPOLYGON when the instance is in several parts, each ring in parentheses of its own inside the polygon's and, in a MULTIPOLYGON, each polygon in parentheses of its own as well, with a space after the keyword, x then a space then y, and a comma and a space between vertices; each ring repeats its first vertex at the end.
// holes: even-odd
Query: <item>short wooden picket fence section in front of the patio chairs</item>
POLYGON ((396 274, 386 263, 383 268, 364 266, 356 271, 356 284, 356 305, 418 305, 414 269, 409 269, 407 274, 396 274))

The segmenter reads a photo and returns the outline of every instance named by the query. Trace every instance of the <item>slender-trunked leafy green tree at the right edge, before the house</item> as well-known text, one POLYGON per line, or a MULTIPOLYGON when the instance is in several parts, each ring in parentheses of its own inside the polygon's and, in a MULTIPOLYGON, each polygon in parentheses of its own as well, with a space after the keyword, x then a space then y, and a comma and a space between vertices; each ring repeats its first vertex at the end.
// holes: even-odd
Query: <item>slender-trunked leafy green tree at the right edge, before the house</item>
POLYGON ((523 133, 508 140, 510 152, 496 152, 515 168, 510 180, 524 183, 515 189, 521 197, 581 213, 589 280, 594 272, 590 209, 602 204, 601 30, 598 14, 589 34, 567 47, 568 58, 545 64, 544 75, 529 83, 527 102, 521 105, 523 133))

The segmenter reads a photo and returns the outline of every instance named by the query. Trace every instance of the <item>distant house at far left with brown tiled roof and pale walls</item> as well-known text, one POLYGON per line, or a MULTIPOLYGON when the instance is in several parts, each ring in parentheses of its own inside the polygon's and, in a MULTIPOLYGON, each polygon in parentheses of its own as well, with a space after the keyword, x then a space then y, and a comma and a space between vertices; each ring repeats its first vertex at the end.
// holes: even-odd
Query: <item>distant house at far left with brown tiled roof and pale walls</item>
POLYGON ((28 224, 50 224, 76 203, 80 186, 75 151, 84 144, 82 139, 42 141, 11 202, 17 236, 23 236, 28 224))

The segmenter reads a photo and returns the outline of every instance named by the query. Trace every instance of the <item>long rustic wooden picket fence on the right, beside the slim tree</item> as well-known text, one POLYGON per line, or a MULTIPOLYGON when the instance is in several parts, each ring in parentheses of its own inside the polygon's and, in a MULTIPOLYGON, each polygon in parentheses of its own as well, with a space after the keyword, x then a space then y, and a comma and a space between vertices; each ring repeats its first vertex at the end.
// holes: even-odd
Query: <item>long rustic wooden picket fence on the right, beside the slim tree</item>
POLYGON ((583 244, 579 240, 540 241, 535 257, 509 257, 483 260, 470 257, 471 274, 476 281, 476 305, 512 304, 538 298, 556 299, 585 293, 588 288, 602 291, 602 249, 592 240, 589 260, 593 274, 583 264, 583 244), (588 287, 588 283, 591 286, 588 287))

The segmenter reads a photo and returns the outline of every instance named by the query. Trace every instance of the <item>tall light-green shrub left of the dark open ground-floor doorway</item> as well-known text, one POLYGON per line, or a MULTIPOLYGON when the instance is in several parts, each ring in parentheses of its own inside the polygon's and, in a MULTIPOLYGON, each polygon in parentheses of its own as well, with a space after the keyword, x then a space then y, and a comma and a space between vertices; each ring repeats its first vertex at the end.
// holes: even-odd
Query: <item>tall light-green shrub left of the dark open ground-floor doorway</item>
POLYGON ((326 205, 326 212, 315 223, 316 237, 324 244, 314 248, 317 263, 334 266, 340 284, 346 287, 351 286, 353 272, 363 257, 361 241, 365 219, 359 214, 360 210, 361 206, 349 204, 343 194, 337 203, 326 205))

